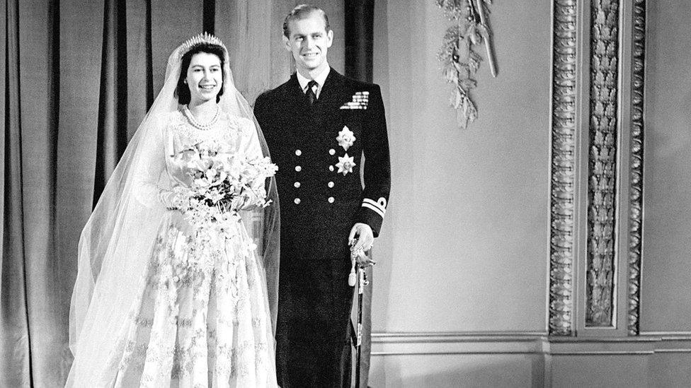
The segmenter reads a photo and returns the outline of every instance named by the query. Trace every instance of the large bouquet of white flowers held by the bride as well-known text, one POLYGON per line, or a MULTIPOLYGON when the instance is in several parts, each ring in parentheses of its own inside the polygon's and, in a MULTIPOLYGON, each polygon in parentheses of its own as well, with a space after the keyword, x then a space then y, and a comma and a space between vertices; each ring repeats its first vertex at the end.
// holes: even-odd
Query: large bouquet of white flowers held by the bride
POLYGON ((265 180, 278 166, 270 158, 248 158, 217 142, 202 142, 173 155, 176 165, 188 170, 189 187, 176 187, 173 206, 180 209, 195 230, 209 228, 230 232, 238 212, 265 207, 265 180))

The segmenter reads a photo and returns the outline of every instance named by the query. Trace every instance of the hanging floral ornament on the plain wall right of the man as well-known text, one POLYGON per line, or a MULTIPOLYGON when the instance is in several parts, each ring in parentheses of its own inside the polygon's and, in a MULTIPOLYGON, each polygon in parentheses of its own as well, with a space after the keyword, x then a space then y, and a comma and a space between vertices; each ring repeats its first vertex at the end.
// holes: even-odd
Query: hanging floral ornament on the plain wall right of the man
POLYGON ((446 30, 444 44, 438 59, 442 62, 444 77, 453 84, 451 105, 456 110, 458 126, 465 129, 468 122, 477 118, 477 109, 471 100, 470 90, 475 88, 475 72, 482 57, 474 50, 484 42, 486 59, 492 76, 498 74, 492 35, 489 29, 487 4, 491 0, 435 0, 445 15, 455 24, 446 30))

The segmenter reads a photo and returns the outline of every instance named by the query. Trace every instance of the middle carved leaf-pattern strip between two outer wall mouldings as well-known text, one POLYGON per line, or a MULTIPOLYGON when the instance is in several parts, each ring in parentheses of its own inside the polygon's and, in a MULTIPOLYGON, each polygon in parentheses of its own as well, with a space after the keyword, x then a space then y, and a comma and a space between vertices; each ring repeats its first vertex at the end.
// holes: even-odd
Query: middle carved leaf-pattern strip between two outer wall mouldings
POLYGON ((617 0, 593 0, 590 7, 586 326, 611 327, 615 278, 619 3, 617 0))

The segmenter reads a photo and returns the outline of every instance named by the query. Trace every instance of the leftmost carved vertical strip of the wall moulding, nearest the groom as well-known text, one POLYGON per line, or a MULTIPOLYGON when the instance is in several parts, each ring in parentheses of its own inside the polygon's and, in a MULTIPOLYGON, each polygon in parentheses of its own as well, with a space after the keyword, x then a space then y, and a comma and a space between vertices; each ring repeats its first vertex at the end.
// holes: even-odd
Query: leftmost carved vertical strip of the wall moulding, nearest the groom
POLYGON ((573 334, 576 181, 576 0, 554 1, 549 334, 573 334))

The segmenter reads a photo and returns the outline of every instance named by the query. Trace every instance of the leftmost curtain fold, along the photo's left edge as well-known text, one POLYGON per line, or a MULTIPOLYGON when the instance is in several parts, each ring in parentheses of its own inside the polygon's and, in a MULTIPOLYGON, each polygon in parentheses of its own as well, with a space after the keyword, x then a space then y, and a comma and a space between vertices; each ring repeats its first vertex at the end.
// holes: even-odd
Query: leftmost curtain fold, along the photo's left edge
POLYGON ((4 2, 2 261, 0 270, 0 385, 29 387, 31 343, 26 295, 22 196, 19 2, 4 2))

